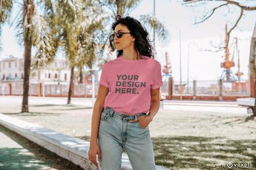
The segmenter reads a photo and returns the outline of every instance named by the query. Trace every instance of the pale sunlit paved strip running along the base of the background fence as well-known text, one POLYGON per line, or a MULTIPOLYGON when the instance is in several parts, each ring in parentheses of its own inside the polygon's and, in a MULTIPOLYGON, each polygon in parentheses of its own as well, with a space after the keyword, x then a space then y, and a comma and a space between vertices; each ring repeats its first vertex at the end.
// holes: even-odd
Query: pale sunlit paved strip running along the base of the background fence
MULTIPOLYGON (((5 103, 22 103, 22 96, 0 95, 0 101, 5 103)), ((66 105, 66 97, 29 97, 29 105, 51 104, 66 105)), ((93 99, 91 98, 72 98, 72 104, 81 105, 83 107, 93 107, 93 99)), ((245 107, 239 107, 236 101, 179 101, 164 100, 165 110, 194 110, 206 112, 232 112, 247 113, 245 107)), ((20 110, 20 108, 18 108, 20 110)))

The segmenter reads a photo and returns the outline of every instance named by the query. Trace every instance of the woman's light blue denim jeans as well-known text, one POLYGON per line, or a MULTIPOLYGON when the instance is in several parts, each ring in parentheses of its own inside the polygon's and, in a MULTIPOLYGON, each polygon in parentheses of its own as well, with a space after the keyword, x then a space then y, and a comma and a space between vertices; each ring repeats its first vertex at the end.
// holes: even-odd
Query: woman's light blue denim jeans
POLYGON ((120 170, 123 148, 134 170, 156 169, 150 132, 148 127, 140 127, 138 122, 129 122, 135 116, 119 114, 110 107, 102 111, 98 131, 98 145, 102 156, 100 169, 120 170))

